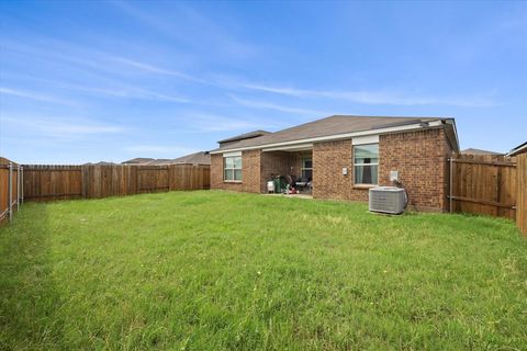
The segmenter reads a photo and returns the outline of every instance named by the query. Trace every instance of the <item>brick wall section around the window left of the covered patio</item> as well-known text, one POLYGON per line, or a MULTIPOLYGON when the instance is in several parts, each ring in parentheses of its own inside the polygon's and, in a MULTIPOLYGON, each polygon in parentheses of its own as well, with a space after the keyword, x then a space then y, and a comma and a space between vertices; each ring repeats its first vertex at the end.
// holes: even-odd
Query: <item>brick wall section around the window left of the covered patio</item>
POLYGON ((260 192, 260 150, 242 152, 242 182, 223 181, 223 155, 211 155, 211 189, 260 192))

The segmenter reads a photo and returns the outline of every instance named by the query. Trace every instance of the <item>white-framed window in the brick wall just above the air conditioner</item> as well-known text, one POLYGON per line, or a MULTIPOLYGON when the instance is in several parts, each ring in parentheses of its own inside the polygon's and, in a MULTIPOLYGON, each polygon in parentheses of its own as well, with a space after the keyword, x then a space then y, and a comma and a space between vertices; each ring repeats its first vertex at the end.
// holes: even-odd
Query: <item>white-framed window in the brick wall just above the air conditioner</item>
POLYGON ((354 146, 355 184, 379 183, 379 144, 354 146))

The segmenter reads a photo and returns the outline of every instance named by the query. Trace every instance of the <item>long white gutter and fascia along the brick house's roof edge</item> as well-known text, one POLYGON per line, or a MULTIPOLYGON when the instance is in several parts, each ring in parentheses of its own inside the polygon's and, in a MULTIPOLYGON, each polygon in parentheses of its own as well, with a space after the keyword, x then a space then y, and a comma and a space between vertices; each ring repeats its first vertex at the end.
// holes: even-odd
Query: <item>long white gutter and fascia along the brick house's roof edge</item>
MULTIPOLYGON (((452 121, 452 120, 447 120, 452 121)), ((216 149, 210 151, 211 155, 215 154, 224 154, 224 152, 233 152, 233 151, 245 151, 245 150, 257 150, 264 148, 271 148, 271 147, 280 147, 280 146, 292 146, 298 144, 310 144, 310 143, 317 143, 317 141, 328 141, 328 140, 339 140, 339 139, 348 139, 357 136, 366 136, 366 135, 377 135, 377 134, 388 134, 388 133, 397 133, 397 132, 407 132, 407 131, 418 131, 418 129, 427 129, 434 127, 440 127, 445 124, 445 120, 431 121, 431 122, 419 122, 414 123, 411 125, 404 126, 394 126, 394 127, 386 127, 380 129, 371 129, 371 131, 362 131, 362 132, 351 132, 351 133, 344 133, 344 134, 335 134, 328 136, 319 136, 313 138, 304 138, 304 139, 296 139, 290 141, 281 141, 281 143, 271 143, 271 144, 262 144, 262 145, 255 145, 255 146, 246 146, 246 147, 238 147, 232 149, 216 149)), ((453 124, 453 131, 456 134, 457 140, 457 133, 456 133, 456 124, 453 124)), ((459 143, 458 143, 459 145, 459 143)))

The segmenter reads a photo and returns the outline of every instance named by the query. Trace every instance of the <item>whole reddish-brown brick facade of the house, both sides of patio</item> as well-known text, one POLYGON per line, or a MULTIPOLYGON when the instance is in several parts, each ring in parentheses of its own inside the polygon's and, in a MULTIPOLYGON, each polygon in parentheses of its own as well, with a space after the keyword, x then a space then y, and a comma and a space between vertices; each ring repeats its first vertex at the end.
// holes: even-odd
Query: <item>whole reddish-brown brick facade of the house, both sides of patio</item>
MULTIPOLYGON (((442 128, 381 135, 379 183, 391 185, 390 171, 399 171, 411 206, 421 211, 446 211, 450 150, 442 128)), ((223 182, 223 156, 212 155, 211 189, 264 193, 271 173, 300 174, 303 155, 250 150, 242 157, 242 182, 227 183, 223 182)), ((354 186, 351 139, 315 143, 312 157, 313 197, 368 201, 368 189, 354 186), (347 174, 343 174, 343 168, 347 168, 347 174)))

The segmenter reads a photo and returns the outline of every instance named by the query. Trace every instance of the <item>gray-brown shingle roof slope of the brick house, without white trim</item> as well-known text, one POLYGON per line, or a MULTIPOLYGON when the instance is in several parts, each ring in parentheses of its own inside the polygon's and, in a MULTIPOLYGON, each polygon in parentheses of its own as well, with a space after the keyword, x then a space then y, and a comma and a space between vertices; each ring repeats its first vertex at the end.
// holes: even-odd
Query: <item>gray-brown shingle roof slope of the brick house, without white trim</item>
POLYGON ((446 120, 445 117, 389 117, 389 116, 356 116, 334 115, 314 122, 301 124, 276 133, 266 134, 251 139, 229 143, 215 150, 264 146, 268 144, 294 141, 307 138, 324 137, 344 133, 356 133, 380 129, 419 122, 446 120))

